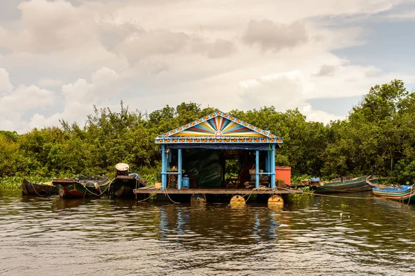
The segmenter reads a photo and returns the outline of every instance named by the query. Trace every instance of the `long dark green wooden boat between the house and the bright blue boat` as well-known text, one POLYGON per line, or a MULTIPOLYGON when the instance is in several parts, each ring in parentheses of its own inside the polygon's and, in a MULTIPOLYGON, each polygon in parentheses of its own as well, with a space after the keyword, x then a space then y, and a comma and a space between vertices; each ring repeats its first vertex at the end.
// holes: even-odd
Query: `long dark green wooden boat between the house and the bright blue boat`
POLYGON ((361 176, 357 178, 342 177, 335 178, 330 182, 319 183, 318 185, 311 185, 311 189, 317 194, 324 194, 330 192, 364 192, 371 190, 367 182, 378 183, 378 178, 375 176, 361 176))

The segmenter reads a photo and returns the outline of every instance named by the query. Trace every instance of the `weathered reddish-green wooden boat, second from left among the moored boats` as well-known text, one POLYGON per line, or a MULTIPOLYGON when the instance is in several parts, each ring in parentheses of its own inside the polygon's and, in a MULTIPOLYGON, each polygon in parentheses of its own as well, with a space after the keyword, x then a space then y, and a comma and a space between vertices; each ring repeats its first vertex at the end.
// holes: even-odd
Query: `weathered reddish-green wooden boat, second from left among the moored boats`
POLYGON ((79 178, 54 178, 53 185, 64 198, 101 196, 108 192, 110 181, 108 176, 86 176, 79 178))

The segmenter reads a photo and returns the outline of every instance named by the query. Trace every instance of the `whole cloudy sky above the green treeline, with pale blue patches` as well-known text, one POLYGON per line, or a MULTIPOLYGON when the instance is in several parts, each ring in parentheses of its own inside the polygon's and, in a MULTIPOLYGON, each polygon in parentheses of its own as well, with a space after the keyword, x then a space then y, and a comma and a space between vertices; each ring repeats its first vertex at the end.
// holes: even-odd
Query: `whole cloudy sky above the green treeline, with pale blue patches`
POLYGON ((165 104, 342 119, 415 87, 415 1, 0 0, 0 129, 165 104))

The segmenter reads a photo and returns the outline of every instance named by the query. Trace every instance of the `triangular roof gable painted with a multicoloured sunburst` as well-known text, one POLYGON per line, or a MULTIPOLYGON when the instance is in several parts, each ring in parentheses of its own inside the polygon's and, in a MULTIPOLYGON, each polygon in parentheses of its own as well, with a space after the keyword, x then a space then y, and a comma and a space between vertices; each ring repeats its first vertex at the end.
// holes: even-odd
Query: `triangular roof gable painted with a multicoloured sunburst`
POLYGON ((159 143, 186 142, 274 142, 282 143, 282 138, 270 134, 259 127, 243 122, 222 111, 194 120, 156 137, 159 143))

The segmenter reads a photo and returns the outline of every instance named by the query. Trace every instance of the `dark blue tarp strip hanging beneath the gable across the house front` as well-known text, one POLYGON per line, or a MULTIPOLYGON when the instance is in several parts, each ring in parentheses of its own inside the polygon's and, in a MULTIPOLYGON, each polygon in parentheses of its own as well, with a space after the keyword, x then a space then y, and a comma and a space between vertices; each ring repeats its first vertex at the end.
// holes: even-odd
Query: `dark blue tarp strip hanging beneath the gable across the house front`
MULTIPOLYGON (((268 151, 272 149, 271 144, 168 144, 170 149, 245 149, 256 151, 268 151)), ((278 149, 279 145, 276 144, 278 149)))

